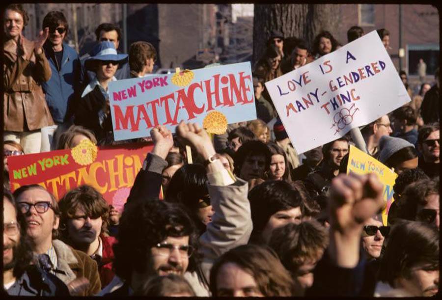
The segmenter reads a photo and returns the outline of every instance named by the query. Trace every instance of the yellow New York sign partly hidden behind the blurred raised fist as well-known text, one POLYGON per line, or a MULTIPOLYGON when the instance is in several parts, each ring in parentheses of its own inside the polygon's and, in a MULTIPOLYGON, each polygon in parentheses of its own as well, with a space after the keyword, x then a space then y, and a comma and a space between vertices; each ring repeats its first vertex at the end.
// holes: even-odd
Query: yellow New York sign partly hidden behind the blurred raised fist
POLYGON ((364 153, 353 145, 350 145, 350 153, 348 157, 347 174, 354 172, 359 175, 368 173, 376 173, 379 180, 384 184, 382 192, 386 206, 382 211, 382 222, 387 225, 387 215, 391 203, 393 203, 393 186, 397 178, 397 174, 390 170, 385 164, 382 164, 375 158, 364 153))

